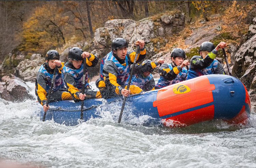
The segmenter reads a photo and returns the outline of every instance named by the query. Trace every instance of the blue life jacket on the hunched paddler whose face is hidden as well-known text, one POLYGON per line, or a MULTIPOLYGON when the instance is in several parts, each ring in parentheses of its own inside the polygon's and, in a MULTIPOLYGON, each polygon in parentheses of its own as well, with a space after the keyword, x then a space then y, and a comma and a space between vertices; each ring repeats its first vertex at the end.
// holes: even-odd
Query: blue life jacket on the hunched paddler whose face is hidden
MULTIPOLYGON (((130 75, 129 75, 129 77, 130 77, 130 75)), ((126 80, 125 85, 128 85, 129 77, 126 80)), ((152 74, 146 76, 145 78, 143 78, 141 74, 134 74, 134 75, 132 75, 130 85, 136 85, 136 86, 140 87, 141 89, 144 89, 145 84, 147 82, 149 82, 152 78, 153 78, 152 74)))

